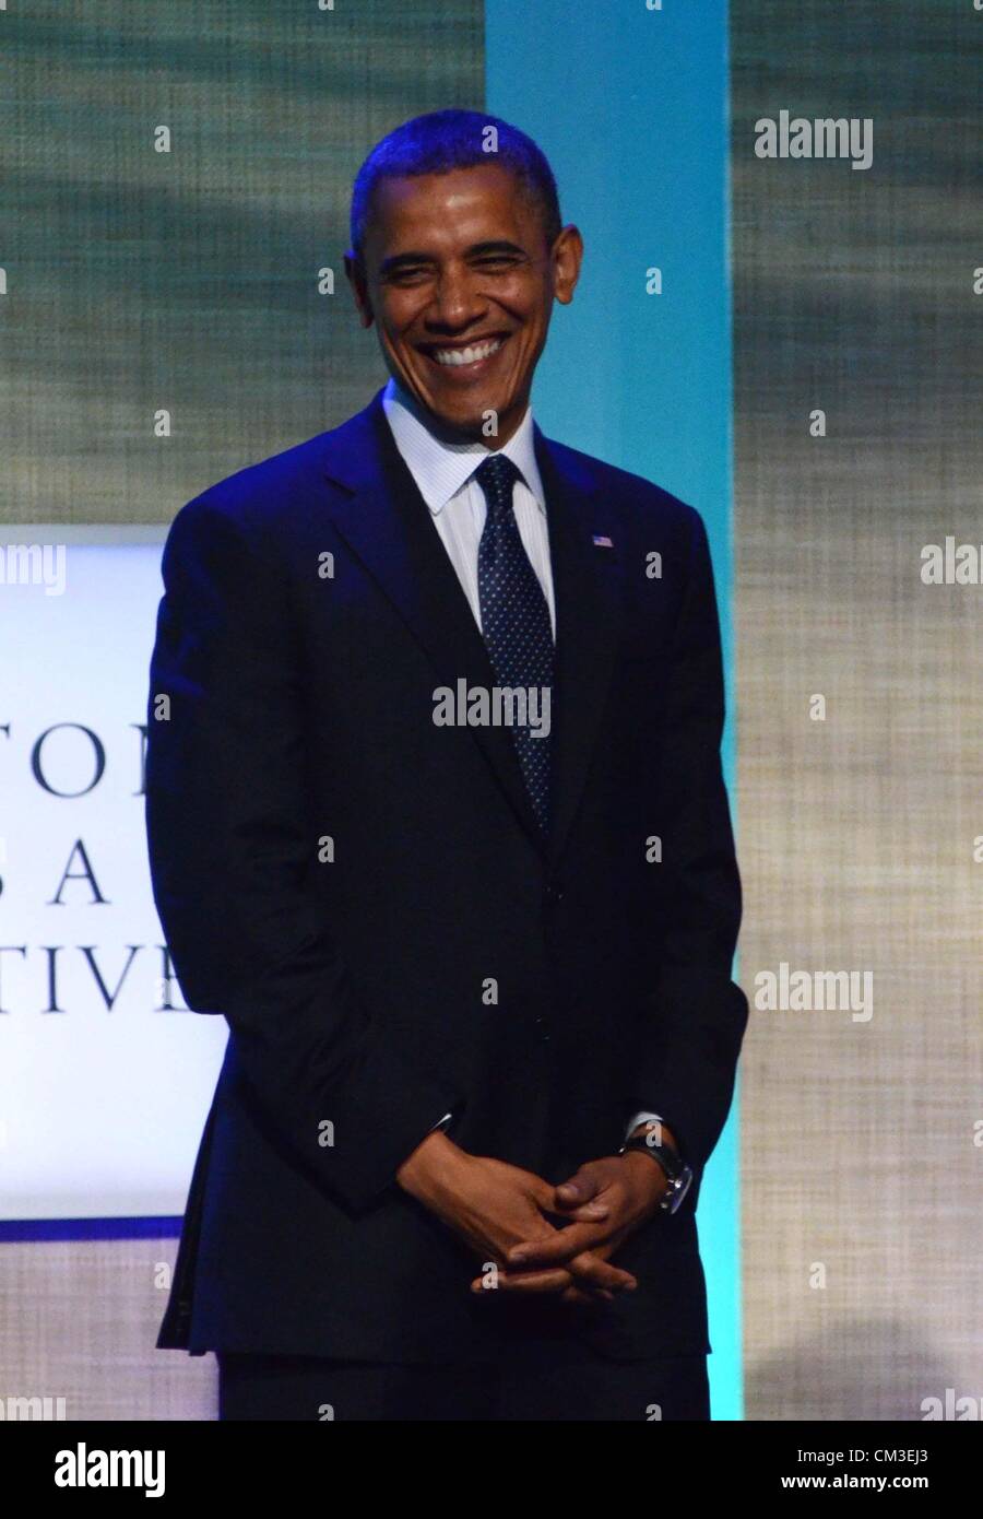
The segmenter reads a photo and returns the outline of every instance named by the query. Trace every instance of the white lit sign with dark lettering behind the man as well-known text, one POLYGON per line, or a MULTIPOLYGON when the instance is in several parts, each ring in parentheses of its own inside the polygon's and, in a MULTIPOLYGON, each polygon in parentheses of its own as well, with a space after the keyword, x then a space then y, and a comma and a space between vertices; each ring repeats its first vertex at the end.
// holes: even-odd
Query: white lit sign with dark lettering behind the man
POLYGON ((0 533, 0 1218, 181 1214, 228 1027, 184 1007, 150 895, 161 542, 0 533))

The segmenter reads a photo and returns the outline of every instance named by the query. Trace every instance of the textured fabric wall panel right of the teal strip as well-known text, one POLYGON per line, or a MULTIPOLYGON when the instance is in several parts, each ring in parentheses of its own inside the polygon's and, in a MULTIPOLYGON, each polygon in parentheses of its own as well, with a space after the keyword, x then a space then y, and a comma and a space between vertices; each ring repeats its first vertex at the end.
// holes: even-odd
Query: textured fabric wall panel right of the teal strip
POLYGON ((919 579, 983 539, 983 17, 731 26, 746 1414, 921 1419, 983 1393, 981 591, 919 579), (871 117, 872 167, 757 158, 781 109, 871 117), (755 1012, 781 962, 872 972, 872 1018, 755 1012))

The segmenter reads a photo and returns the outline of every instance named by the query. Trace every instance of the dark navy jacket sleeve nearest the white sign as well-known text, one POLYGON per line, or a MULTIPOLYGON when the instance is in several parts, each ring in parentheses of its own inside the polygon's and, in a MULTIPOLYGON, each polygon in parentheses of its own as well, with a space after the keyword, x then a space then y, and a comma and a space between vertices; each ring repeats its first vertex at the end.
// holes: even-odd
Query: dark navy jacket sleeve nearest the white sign
POLYGON ((325 922, 280 559, 205 497, 169 533, 147 714, 153 898, 188 1007, 225 1015, 267 1123, 360 1212, 460 1094, 371 1016, 325 922))

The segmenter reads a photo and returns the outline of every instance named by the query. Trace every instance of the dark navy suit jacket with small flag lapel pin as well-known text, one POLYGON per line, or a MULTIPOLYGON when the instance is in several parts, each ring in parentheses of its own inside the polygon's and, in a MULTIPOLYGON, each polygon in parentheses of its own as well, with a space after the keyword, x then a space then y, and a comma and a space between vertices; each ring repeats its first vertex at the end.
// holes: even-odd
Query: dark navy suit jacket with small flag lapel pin
POLYGON ((438 687, 495 679, 381 392, 172 526, 153 892, 188 1006, 231 1033, 160 1346, 491 1353, 530 1309, 468 1291, 480 1262, 398 1165, 453 1110, 465 1150, 561 1182, 650 1109, 696 1170, 688 1200, 615 1255, 635 1293, 544 1303, 536 1322, 618 1358, 708 1349, 694 1208, 748 1003, 706 533, 538 428, 536 459, 556 594, 548 843, 507 728, 433 722, 438 687))

